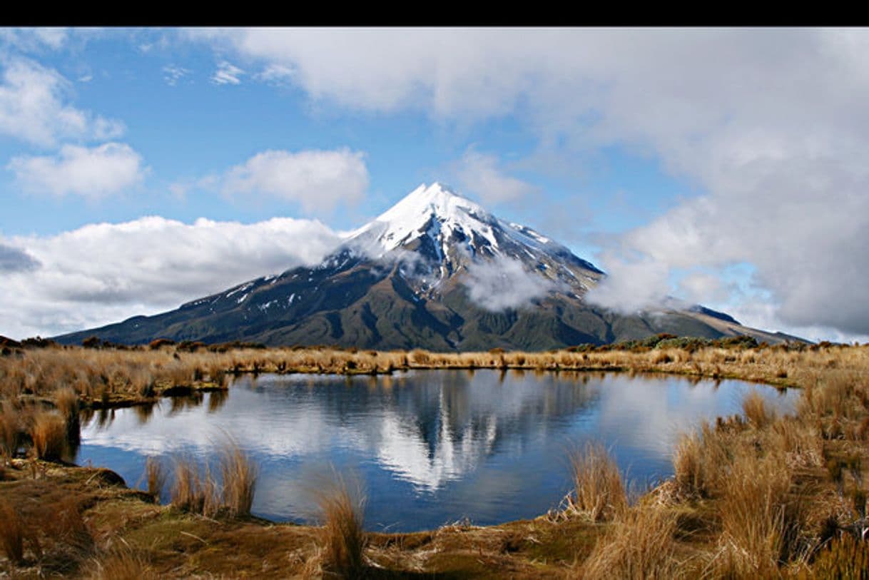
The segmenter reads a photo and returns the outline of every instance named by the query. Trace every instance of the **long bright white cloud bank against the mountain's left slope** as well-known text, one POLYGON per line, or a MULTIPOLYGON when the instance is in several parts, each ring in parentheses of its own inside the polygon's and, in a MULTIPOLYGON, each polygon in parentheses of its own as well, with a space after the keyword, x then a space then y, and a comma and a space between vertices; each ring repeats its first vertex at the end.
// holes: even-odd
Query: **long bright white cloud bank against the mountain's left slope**
POLYGON ((50 336, 176 308, 269 272, 316 263, 340 237, 318 221, 96 223, 0 238, 0 334, 50 336), (26 254, 25 254, 26 252, 26 254), (25 256, 38 268, 26 265, 25 256))

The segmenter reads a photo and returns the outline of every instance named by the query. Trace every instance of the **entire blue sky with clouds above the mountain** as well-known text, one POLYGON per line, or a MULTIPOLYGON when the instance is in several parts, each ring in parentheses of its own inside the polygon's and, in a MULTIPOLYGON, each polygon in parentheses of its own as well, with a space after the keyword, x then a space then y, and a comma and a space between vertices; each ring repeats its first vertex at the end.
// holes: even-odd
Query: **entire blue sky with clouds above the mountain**
POLYGON ((315 263, 448 183, 607 271, 869 341, 869 30, 0 29, 0 335, 315 263))

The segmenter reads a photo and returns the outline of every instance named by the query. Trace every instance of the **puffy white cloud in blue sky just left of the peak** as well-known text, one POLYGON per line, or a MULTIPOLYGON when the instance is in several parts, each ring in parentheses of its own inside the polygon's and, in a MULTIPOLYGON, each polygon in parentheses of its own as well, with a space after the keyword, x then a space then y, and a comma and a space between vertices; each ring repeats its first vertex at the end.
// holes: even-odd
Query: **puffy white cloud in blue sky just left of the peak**
POLYGON ((360 151, 268 150, 211 181, 219 183, 224 195, 262 194, 323 214, 362 199, 368 189, 368 168, 360 151))

